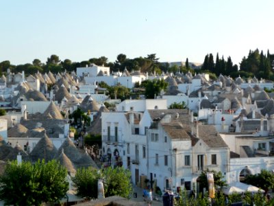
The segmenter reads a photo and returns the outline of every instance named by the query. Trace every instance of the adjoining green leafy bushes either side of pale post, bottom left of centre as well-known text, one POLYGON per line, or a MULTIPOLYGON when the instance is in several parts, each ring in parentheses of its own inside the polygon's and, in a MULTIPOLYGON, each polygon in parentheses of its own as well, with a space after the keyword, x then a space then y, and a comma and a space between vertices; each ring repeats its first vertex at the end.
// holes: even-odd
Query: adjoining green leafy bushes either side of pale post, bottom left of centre
POLYGON ((102 170, 82 168, 77 170, 73 183, 77 190, 77 195, 87 199, 97 198, 97 181, 103 179, 105 197, 122 196, 129 198, 132 194, 132 184, 130 183, 131 173, 124 168, 105 168, 102 170))

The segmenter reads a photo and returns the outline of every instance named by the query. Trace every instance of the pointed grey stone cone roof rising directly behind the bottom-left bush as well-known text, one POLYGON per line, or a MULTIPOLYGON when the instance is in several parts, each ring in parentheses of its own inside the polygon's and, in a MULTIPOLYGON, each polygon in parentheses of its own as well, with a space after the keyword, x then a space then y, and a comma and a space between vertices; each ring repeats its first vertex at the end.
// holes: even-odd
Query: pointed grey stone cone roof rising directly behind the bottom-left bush
POLYGON ((51 161, 58 154, 58 150, 53 145, 51 139, 45 134, 35 148, 30 153, 32 161, 38 161, 38 159, 45 159, 45 161, 51 161))

